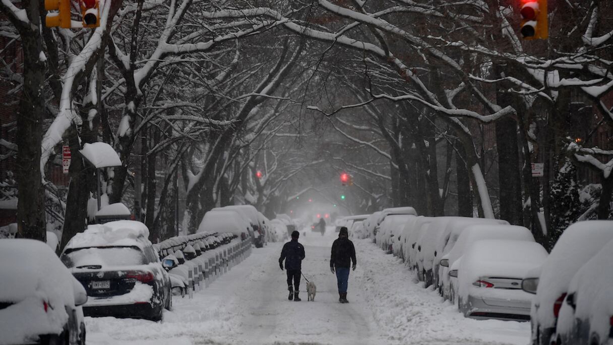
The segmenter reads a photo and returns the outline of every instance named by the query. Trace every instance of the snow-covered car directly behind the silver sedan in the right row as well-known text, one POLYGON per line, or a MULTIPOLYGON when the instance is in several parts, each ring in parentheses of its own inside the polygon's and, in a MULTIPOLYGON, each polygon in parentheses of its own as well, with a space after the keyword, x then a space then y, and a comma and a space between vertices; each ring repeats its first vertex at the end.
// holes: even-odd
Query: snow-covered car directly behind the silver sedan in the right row
MULTIPOLYGON (((449 253, 441 258, 441 265, 445 269, 443 271, 452 271, 459 268, 460 262, 458 261, 465 254, 466 249, 470 247, 474 242, 481 239, 516 239, 519 241, 534 242, 535 238, 532 236, 530 230, 518 225, 494 225, 494 224, 478 224, 468 225, 463 228, 458 236, 455 245, 449 253)), ((522 276, 523 277, 523 276, 522 276)), ((520 277, 521 278, 521 277, 520 277)), ((450 275, 447 279, 441 279, 443 283, 443 297, 455 303, 455 297, 458 292, 457 279, 450 275)), ((518 286, 521 288, 521 281, 518 286)))

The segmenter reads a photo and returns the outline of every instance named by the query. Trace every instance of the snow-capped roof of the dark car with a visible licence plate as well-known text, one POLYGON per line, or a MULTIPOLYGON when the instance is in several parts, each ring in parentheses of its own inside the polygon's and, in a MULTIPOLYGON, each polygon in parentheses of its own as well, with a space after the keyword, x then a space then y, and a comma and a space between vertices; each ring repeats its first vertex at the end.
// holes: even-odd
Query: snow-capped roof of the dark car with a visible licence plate
POLYGON ((77 233, 66 245, 69 248, 137 246, 150 244, 149 229, 135 220, 116 220, 104 224, 89 225, 82 233, 77 233))

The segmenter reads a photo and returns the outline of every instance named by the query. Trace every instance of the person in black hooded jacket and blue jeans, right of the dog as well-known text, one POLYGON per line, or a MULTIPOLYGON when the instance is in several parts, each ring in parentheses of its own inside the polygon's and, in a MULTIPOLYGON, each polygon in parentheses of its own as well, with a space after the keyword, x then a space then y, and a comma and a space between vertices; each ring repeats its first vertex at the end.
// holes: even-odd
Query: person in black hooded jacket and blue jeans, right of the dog
POLYGON ((356 247, 349 241, 346 227, 342 227, 338 238, 332 243, 332 255, 330 255, 330 271, 337 274, 338 301, 349 303, 347 300, 347 280, 349 279, 349 264, 353 262, 353 270, 356 270, 356 247))

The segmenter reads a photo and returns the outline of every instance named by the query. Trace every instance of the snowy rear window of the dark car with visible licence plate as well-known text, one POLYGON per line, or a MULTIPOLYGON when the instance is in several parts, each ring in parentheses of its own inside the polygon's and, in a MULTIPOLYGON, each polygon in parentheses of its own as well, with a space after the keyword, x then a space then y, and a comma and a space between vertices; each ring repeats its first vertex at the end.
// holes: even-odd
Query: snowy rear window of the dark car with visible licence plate
POLYGON ((145 254, 138 247, 87 247, 67 250, 61 260, 68 268, 134 266, 147 263, 145 254))

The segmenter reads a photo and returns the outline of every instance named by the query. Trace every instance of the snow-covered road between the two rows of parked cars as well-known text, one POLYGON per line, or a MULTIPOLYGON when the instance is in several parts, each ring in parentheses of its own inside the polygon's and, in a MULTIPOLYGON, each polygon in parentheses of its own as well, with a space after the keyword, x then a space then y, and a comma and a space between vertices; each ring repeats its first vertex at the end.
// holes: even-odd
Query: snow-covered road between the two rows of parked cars
MULTIPOLYGON (((278 266, 281 243, 254 249, 192 300, 175 298, 164 322, 86 318, 88 344, 527 344, 530 325, 465 319, 449 303, 413 282, 402 262, 369 240, 357 240, 349 304, 338 303, 329 270, 337 234, 301 236, 303 273, 316 282, 314 302, 287 301, 278 266)), ((301 290, 306 289, 304 281, 301 290)))

